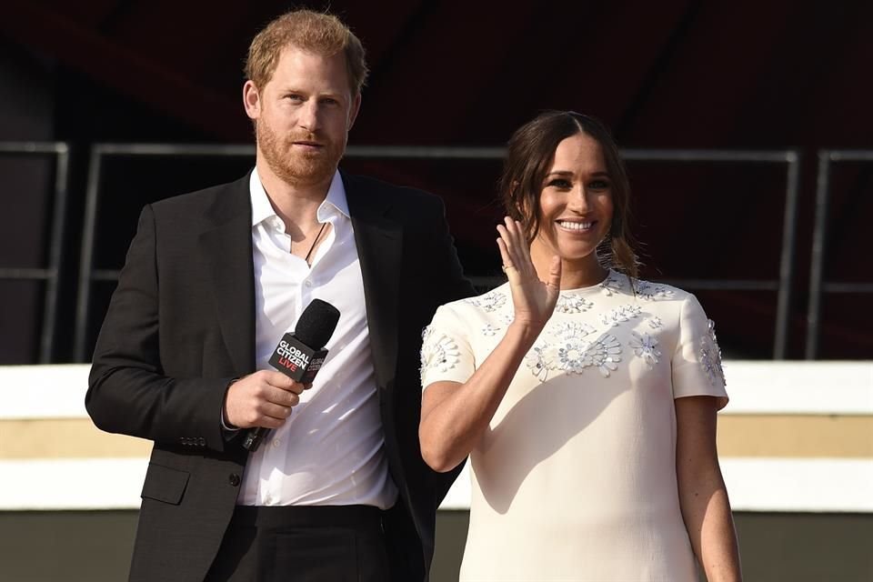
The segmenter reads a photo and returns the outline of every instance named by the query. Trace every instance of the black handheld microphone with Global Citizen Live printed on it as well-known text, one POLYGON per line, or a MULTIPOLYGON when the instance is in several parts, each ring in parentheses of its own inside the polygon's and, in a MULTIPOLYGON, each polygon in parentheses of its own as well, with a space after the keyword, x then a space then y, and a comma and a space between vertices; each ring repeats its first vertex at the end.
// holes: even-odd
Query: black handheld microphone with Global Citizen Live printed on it
MULTIPOLYGON (((282 336, 270 357, 270 366, 301 384, 311 383, 325 363, 325 345, 334 335, 338 321, 339 309, 321 299, 313 299, 300 314, 294 333, 282 336)), ((256 451, 269 432, 266 426, 252 428, 246 433, 243 447, 256 451)))

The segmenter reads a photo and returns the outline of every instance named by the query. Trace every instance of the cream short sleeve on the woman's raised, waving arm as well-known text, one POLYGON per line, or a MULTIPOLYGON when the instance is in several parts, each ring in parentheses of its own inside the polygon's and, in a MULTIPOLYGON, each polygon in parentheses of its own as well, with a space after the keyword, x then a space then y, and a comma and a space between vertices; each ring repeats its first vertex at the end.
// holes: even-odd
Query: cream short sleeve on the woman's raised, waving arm
POLYGON ((467 326, 451 306, 439 307, 422 335, 422 388, 434 382, 467 382, 475 370, 467 326))

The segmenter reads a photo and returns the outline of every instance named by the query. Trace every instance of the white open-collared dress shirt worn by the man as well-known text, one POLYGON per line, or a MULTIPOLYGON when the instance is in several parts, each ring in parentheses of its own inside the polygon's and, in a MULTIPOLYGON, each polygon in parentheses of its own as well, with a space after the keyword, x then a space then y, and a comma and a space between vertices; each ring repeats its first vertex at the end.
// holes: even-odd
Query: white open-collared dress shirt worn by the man
POLYGON ((394 505, 366 325, 364 283, 339 172, 318 207, 331 229, 311 257, 291 254, 291 238, 257 170, 250 181, 255 261, 256 366, 294 330, 315 298, 339 310, 328 355, 291 416, 251 453, 237 504, 247 506, 394 505))

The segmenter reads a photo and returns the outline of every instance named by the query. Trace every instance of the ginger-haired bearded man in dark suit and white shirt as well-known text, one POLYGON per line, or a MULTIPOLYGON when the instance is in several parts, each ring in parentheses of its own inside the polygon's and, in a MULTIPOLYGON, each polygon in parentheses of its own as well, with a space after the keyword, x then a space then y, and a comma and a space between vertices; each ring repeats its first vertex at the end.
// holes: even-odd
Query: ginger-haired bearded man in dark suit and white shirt
POLYGON ((95 424, 155 441, 130 578, 425 580, 455 474, 419 452, 420 334, 472 288, 436 197, 337 170, 366 77, 345 25, 280 16, 246 75, 256 168, 146 206, 95 346, 95 424), (341 316, 310 387, 267 361, 314 298, 341 316))

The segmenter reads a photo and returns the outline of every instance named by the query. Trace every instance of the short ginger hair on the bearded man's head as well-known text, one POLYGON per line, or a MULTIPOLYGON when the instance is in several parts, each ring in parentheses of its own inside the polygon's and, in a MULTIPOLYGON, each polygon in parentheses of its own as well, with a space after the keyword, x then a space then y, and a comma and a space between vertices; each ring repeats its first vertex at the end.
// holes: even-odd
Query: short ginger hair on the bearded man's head
POLYGON ((248 47, 246 78, 259 89, 276 72, 279 55, 295 46, 316 55, 346 55, 346 73, 352 95, 359 95, 366 82, 364 45, 335 15, 312 10, 294 10, 277 17, 259 32, 248 47))

